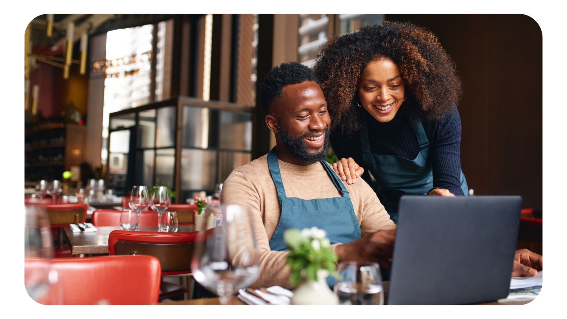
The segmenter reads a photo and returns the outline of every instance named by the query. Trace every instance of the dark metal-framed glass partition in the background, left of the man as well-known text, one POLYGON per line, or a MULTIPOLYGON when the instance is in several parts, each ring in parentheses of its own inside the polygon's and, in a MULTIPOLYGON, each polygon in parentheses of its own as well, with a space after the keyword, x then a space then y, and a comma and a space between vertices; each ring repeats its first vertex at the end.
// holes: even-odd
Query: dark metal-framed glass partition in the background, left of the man
POLYGON ((108 187, 126 195, 133 185, 159 182, 176 191, 174 203, 196 191, 213 192, 251 161, 252 111, 179 96, 111 113, 108 187))

